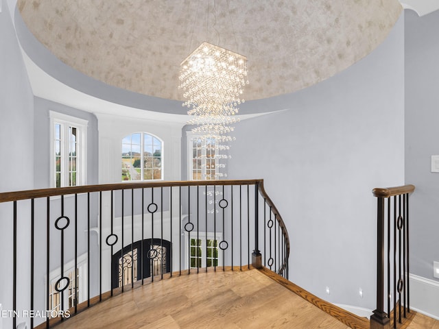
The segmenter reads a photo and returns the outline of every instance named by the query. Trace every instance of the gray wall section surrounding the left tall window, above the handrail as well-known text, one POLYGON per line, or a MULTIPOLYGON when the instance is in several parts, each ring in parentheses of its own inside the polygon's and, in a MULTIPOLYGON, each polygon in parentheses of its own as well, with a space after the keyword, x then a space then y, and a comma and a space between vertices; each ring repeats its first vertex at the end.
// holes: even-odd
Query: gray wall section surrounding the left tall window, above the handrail
POLYGON ((54 101, 35 97, 35 188, 50 187, 50 119, 49 110, 88 120, 87 127, 87 184, 98 182, 98 132, 97 118, 94 114, 64 106, 54 101))

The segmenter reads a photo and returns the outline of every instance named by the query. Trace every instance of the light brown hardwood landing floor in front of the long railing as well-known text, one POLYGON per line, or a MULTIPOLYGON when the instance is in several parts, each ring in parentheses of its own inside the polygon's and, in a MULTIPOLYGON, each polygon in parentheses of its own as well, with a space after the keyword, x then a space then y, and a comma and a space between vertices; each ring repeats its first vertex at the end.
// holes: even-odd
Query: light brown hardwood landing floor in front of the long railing
POLYGON ((345 329, 256 269, 191 274, 112 297, 56 328, 345 329))

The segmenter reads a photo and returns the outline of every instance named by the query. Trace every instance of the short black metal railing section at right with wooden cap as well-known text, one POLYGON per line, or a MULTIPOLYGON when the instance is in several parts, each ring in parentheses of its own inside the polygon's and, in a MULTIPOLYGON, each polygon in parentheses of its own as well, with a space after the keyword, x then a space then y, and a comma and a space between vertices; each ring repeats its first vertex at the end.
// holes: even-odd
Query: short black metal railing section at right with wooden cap
POLYGON ((377 309, 371 328, 403 323, 410 313, 409 194, 413 185, 374 188, 377 197, 377 309), (385 312, 387 304, 387 313, 385 312))

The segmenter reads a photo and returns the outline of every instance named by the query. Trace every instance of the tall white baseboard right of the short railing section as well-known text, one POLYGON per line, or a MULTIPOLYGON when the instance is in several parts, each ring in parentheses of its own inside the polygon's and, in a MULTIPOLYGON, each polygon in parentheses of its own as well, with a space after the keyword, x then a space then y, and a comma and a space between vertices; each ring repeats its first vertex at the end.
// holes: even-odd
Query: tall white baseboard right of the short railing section
POLYGON ((410 308, 414 311, 439 320, 439 282, 409 275, 410 308))

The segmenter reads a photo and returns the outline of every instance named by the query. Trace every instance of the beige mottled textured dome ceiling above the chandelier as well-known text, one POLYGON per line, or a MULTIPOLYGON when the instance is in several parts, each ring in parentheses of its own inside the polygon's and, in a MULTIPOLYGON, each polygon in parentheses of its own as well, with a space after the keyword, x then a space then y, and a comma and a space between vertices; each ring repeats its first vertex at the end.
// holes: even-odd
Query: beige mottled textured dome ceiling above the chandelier
POLYGON ((375 49, 398 0, 19 0, 62 62, 136 93, 182 100, 180 62, 202 41, 248 57, 244 97, 292 93, 375 49))

